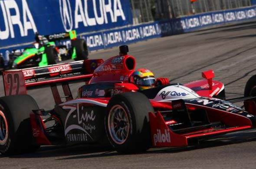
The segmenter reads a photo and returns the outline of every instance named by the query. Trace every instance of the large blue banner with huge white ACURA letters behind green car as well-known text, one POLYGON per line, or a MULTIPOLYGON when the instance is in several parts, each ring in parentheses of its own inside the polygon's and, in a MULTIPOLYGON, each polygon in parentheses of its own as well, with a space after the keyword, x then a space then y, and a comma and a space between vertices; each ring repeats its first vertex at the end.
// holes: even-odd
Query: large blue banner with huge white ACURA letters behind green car
POLYGON ((48 35, 132 24, 129 0, 0 0, 0 47, 48 35))

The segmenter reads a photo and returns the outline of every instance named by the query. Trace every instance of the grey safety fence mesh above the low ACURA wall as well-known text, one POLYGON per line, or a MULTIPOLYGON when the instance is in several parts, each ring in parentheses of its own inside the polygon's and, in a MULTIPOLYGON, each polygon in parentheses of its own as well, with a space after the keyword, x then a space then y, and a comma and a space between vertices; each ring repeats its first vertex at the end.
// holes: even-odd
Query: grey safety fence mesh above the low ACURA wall
POLYGON ((131 0, 134 24, 251 5, 251 0, 131 0))

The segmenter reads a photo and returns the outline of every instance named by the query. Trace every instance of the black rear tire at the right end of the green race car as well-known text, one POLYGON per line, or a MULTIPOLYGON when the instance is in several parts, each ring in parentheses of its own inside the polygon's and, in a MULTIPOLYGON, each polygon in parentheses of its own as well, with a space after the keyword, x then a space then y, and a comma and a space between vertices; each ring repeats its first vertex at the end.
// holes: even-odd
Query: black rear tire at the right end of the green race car
MULTIPOLYGON (((75 60, 86 60, 88 59, 88 47, 84 39, 75 39, 71 41, 72 48, 75 47, 76 58, 75 60)), ((72 51, 73 52, 73 51, 72 51)))

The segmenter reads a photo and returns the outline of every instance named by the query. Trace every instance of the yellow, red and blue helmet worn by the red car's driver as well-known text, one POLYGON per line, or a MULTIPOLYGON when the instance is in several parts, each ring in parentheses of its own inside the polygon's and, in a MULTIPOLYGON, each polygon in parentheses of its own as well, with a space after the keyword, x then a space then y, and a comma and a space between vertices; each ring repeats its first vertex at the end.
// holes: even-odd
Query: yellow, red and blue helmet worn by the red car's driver
POLYGON ((155 77, 152 71, 140 68, 131 74, 130 82, 135 83, 140 90, 154 88, 155 77))

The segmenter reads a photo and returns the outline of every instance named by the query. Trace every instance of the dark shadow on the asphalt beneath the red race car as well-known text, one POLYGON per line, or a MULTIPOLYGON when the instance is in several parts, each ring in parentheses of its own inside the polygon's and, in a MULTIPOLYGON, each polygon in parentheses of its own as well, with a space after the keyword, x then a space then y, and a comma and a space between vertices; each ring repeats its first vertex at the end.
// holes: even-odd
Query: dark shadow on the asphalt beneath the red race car
MULTIPOLYGON (((138 154, 157 154, 157 153, 180 153, 184 151, 192 151, 196 149, 204 149, 217 146, 226 146, 238 143, 246 143, 256 141, 256 130, 246 130, 236 133, 228 133, 226 135, 211 137, 209 140, 200 140, 195 146, 177 147, 177 148, 151 148, 144 153, 138 154)), ((103 146, 44 146, 36 153, 22 154, 16 156, 10 156, 10 158, 48 158, 48 157, 62 157, 55 160, 66 159, 86 159, 86 158, 99 158, 107 156, 129 156, 136 154, 119 154, 113 151, 110 147, 103 146), (67 156, 64 157, 63 156, 67 156)), ((0 156, 5 157, 5 156, 0 156)))

